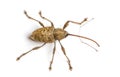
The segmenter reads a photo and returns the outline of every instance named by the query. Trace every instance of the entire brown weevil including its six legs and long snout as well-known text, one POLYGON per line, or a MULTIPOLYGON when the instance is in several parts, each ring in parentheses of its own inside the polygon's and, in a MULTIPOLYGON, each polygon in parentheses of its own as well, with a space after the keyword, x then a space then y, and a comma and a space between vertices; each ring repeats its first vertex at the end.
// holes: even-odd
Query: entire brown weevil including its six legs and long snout
MULTIPOLYGON (((31 20, 34 20, 36 22, 38 22, 42 28, 38 28, 37 30, 33 31, 31 36, 29 37, 31 40, 33 41, 38 41, 38 42, 42 42, 43 44, 41 46, 37 46, 37 47, 34 47, 32 48, 31 50, 23 53, 22 55, 20 55, 16 60, 20 60, 21 57, 23 57, 24 55, 28 54, 29 52, 33 51, 33 50, 37 50, 41 47, 43 47, 46 43, 54 43, 54 48, 53 48, 53 55, 52 55, 52 59, 50 61, 50 66, 49 66, 49 70, 52 69, 52 63, 53 63, 53 59, 54 59, 54 55, 55 55, 55 50, 56 50, 56 40, 58 40, 60 46, 61 46, 61 50, 63 52, 63 54, 65 55, 65 57, 67 58, 67 62, 68 62, 68 66, 69 66, 69 70, 72 70, 72 66, 71 66, 71 62, 70 62, 70 59, 68 58, 68 56, 66 55, 66 52, 65 52, 65 48, 63 47, 62 43, 60 42, 62 39, 66 38, 68 35, 70 36, 75 36, 75 37, 80 37, 80 38, 84 38, 84 39, 87 39, 87 40, 90 40, 92 42, 94 42, 98 47, 100 46, 95 40, 93 39, 90 39, 88 37, 84 37, 84 36, 80 36, 80 35, 75 35, 75 34, 70 34, 68 33, 67 31, 65 31, 65 28, 67 26, 69 26, 69 23, 74 23, 74 24, 78 24, 78 25, 81 25, 82 23, 84 23, 85 21, 87 21, 87 18, 85 18, 83 21, 81 22, 75 22, 75 21, 67 21, 63 28, 55 28, 54 27, 54 24, 47 18, 43 17, 41 12, 39 12, 39 15, 42 19, 44 20, 47 20, 51 23, 51 26, 48 26, 48 27, 45 27, 43 25, 42 22, 30 17, 26 11, 24 11, 24 14, 31 20)), ((92 47, 91 45, 81 41, 82 43, 92 47)), ((95 49, 94 47, 92 47, 93 49, 95 49)), ((95 49, 96 50, 96 49, 95 49)), ((97 50, 96 50, 97 51, 97 50)))

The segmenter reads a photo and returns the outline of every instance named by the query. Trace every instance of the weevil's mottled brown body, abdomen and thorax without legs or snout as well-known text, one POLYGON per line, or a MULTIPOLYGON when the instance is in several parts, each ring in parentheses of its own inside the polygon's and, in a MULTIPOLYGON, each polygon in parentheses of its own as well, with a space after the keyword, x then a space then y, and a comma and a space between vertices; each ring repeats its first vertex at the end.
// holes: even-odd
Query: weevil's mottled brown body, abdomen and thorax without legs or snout
POLYGON ((44 27, 35 30, 30 36, 31 40, 52 43, 56 40, 62 40, 68 35, 67 31, 54 27, 44 27))

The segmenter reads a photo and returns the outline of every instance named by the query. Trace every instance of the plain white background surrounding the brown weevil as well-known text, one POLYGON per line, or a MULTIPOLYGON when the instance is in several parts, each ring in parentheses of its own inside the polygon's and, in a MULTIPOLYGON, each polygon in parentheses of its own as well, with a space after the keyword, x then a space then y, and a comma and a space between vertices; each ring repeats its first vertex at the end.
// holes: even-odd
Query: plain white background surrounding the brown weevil
POLYGON ((0 0, 0 77, 120 77, 119 10, 119 0, 0 0), (60 28, 67 20, 94 18, 81 28, 71 23, 66 30, 92 38, 101 47, 82 39, 98 49, 95 52, 79 38, 62 40, 73 71, 69 71, 59 43, 52 71, 48 67, 53 44, 47 44, 17 62, 20 54, 41 45, 27 38, 40 26, 29 20, 24 10, 49 26, 38 15, 42 11, 43 16, 60 28))

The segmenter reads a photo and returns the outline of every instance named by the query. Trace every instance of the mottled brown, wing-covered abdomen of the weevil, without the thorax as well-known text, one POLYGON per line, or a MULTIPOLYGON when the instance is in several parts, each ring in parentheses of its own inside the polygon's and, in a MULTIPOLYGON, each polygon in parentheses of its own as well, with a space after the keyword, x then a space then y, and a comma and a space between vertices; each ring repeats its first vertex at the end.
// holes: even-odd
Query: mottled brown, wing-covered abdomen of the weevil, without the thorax
POLYGON ((35 30, 32 33, 35 41, 45 42, 45 43, 52 43, 55 41, 54 39, 54 28, 53 27, 44 27, 35 30))

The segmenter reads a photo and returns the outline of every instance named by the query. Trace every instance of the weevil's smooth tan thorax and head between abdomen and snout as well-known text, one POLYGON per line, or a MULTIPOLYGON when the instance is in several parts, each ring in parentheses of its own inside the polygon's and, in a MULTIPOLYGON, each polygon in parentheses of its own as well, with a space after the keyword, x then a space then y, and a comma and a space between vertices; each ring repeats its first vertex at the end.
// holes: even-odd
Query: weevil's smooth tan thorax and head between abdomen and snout
POLYGON ((57 29, 54 30, 55 40, 62 40, 67 36, 68 36, 68 32, 63 30, 63 29, 57 28, 57 29))

